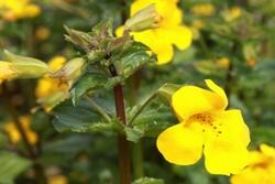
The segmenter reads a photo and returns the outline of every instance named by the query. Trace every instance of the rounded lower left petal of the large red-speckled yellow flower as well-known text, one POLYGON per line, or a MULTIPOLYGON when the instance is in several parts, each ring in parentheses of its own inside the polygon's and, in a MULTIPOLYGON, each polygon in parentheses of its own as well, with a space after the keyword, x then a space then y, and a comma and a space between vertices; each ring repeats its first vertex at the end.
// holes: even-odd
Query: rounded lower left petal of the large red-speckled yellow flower
POLYGON ((162 132, 156 141, 158 151, 170 163, 189 165, 196 163, 202 153, 200 129, 178 123, 162 132))

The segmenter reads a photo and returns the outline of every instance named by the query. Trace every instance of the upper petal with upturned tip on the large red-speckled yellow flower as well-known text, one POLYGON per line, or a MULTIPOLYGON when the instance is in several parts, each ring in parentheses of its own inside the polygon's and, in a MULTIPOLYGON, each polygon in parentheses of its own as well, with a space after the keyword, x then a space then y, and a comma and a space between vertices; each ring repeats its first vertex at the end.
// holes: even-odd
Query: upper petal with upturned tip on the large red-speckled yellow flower
POLYGON ((224 110, 227 104, 221 98, 221 90, 213 83, 207 80, 213 91, 196 86, 184 86, 172 97, 172 106, 177 117, 184 121, 193 115, 224 110))

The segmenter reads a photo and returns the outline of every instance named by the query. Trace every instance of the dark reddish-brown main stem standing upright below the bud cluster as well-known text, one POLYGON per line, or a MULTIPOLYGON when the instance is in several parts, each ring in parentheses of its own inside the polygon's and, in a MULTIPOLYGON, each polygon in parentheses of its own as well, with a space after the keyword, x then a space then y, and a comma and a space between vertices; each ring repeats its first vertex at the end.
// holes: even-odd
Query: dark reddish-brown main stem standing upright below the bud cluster
MULTIPOLYGON (((117 76, 117 71, 113 65, 110 66, 110 73, 114 77, 117 76)), ((124 109, 124 97, 123 88, 121 84, 113 87, 117 117, 127 125, 125 109, 124 109)), ((120 170, 120 183, 130 184, 131 183, 131 161, 129 153, 129 142, 124 134, 119 134, 119 170, 120 170)))

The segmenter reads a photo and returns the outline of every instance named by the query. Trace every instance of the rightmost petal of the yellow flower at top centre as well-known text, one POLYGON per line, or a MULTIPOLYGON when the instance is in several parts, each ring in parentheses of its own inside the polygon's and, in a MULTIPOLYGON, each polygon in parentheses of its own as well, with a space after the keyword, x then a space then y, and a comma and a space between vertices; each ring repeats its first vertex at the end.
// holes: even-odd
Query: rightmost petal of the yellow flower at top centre
POLYGON ((191 30, 187 26, 174 26, 170 29, 163 29, 163 36, 175 44, 179 50, 185 50, 190 46, 193 40, 191 30))

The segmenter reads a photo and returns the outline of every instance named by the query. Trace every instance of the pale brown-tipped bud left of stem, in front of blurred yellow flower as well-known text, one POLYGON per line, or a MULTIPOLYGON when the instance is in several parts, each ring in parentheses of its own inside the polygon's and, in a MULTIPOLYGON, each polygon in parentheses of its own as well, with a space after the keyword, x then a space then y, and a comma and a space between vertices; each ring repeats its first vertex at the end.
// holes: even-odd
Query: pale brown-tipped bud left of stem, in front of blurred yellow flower
POLYGON ((76 57, 67 62, 59 71, 52 74, 52 77, 59 78, 62 83, 72 86, 82 74, 85 61, 76 57))

